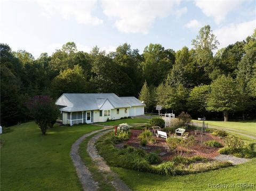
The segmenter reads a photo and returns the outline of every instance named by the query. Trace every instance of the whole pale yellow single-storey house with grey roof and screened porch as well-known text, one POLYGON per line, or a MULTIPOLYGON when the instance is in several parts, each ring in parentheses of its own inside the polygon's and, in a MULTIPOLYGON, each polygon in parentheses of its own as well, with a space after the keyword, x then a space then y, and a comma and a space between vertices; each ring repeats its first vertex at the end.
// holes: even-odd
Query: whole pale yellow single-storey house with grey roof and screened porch
POLYGON ((63 124, 104 122, 144 114, 145 104, 135 97, 116 94, 62 94, 60 106, 63 124))

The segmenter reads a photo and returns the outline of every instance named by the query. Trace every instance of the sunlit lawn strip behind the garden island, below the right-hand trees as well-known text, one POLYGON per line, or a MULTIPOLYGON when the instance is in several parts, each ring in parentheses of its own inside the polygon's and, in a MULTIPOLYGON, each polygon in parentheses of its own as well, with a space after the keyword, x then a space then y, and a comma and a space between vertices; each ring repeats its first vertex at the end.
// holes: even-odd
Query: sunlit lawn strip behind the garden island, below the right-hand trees
MULTIPOLYGON (((194 122, 202 122, 193 120, 194 122)), ((206 121, 210 126, 217 126, 235 130, 244 130, 248 135, 256 136, 256 120, 253 121, 206 121)))

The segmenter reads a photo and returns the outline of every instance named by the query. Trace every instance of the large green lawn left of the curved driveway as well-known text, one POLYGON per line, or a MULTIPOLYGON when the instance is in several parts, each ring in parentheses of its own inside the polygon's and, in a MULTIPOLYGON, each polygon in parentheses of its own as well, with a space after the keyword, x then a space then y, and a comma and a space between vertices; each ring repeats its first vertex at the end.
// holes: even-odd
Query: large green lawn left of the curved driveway
POLYGON ((81 190, 71 145, 98 126, 54 127, 46 136, 34 122, 1 135, 1 190, 81 190))

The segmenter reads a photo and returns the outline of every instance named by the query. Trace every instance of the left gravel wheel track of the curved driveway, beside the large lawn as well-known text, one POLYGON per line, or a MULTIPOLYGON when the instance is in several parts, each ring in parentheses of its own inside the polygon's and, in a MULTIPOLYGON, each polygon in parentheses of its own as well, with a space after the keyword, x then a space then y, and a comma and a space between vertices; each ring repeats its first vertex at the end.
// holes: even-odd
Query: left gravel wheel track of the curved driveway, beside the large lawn
POLYGON ((84 139, 86 137, 89 137, 89 136, 91 136, 97 132, 103 131, 103 130, 106 130, 106 129, 103 128, 100 130, 95 130, 95 131, 89 132, 89 133, 83 135, 82 137, 80 137, 79 139, 77 139, 76 142, 71 146, 70 156, 71 156, 71 159, 73 160, 74 166, 76 168, 77 176, 78 176, 79 180, 81 181, 84 190, 88 190, 88 191, 97 190, 98 182, 95 182, 92 179, 91 172, 84 165, 81 157, 79 156, 79 154, 78 154, 79 145, 84 141, 84 139))

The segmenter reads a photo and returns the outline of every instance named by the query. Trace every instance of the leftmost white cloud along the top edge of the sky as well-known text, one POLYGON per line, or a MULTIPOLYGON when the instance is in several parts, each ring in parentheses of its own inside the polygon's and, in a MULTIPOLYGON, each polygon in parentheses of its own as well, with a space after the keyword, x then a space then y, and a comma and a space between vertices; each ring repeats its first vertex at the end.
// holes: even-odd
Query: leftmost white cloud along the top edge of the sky
POLYGON ((64 19, 75 18, 78 23, 98 25, 103 21, 92 16, 97 1, 58 1, 58 0, 36 0, 47 14, 59 13, 64 19))

